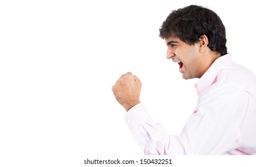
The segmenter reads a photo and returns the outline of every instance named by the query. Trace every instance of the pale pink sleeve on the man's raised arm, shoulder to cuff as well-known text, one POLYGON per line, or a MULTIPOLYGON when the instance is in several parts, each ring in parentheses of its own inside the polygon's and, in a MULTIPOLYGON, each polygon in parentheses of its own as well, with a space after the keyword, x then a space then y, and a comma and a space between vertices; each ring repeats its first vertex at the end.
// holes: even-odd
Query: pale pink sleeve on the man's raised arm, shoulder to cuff
POLYGON ((180 135, 168 135, 143 104, 132 107, 125 121, 145 154, 225 154, 241 140, 236 112, 229 101, 219 97, 201 101, 180 135))

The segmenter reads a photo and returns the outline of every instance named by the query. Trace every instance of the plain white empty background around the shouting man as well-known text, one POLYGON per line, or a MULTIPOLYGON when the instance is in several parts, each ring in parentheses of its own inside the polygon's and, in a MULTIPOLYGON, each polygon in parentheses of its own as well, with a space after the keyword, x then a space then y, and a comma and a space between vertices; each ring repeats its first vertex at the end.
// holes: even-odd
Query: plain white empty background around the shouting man
POLYGON ((153 119, 179 134, 197 103, 197 79, 182 79, 158 34, 172 10, 190 4, 222 18, 228 52, 256 73, 249 0, 0 1, 0 163, 143 156, 111 89, 127 72, 143 83, 140 100, 153 119))

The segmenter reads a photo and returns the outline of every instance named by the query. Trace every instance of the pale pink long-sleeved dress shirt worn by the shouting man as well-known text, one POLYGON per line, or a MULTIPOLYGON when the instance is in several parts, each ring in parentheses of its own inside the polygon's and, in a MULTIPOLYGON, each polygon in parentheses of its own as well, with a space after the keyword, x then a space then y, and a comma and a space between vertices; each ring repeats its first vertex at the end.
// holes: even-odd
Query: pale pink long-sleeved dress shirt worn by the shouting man
POLYGON ((219 57, 195 84, 197 107, 180 135, 169 135, 143 104, 125 114, 145 154, 256 154, 256 76, 219 57))

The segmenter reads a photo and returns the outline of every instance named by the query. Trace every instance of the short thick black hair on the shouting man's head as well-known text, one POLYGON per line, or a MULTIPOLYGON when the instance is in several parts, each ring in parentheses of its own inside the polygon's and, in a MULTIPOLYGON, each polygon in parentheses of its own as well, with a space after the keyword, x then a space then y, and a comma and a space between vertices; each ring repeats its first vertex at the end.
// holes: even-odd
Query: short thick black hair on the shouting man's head
POLYGON ((190 5, 171 11, 159 31, 162 39, 175 36, 189 45, 194 45, 202 35, 206 35, 210 50, 227 54, 225 26, 221 18, 208 8, 190 5))

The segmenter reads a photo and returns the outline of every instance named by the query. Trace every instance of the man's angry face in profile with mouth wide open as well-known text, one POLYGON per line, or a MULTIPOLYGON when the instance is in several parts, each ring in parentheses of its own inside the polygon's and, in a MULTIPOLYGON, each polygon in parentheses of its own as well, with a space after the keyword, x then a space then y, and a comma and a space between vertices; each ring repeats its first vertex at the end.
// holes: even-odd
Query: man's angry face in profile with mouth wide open
POLYGON ((179 38, 167 38, 168 47, 166 57, 179 64, 179 72, 184 79, 201 78, 203 75, 203 61, 198 45, 188 45, 179 38))

